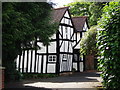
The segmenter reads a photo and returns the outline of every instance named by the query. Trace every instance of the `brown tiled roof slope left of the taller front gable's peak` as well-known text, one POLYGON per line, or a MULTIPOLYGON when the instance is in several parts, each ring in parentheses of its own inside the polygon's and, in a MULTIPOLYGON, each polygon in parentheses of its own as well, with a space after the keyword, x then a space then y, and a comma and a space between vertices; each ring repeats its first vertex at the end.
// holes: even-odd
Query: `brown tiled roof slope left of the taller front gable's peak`
POLYGON ((65 12, 67 11, 69 7, 62 7, 62 8, 56 8, 53 9, 52 12, 52 18, 54 22, 60 22, 63 15, 65 14, 65 12))

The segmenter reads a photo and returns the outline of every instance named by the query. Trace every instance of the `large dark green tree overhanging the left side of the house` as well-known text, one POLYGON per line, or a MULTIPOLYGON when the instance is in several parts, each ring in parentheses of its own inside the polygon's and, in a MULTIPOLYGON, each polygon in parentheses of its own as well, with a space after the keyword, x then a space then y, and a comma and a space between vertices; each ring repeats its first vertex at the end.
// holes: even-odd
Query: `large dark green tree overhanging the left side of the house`
POLYGON ((16 73, 14 59, 22 48, 33 48, 37 38, 43 44, 55 33, 57 25, 51 23, 52 7, 46 2, 8 2, 2 4, 2 61, 6 78, 16 73), (10 65, 9 65, 10 64, 10 65))

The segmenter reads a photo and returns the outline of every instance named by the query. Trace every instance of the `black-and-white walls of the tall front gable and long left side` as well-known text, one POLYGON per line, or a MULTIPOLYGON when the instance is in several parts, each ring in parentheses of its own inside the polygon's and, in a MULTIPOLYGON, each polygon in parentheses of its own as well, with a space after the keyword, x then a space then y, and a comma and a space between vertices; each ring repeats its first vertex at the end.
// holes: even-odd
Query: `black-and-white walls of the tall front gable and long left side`
POLYGON ((40 49, 22 51, 22 55, 19 55, 16 60, 17 70, 22 73, 56 73, 57 62, 59 62, 59 72, 72 71, 74 28, 68 11, 61 19, 57 33, 59 37, 54 34, 50 45, 44 46, 37 39, 37 46, 40 49), (57 45, 58 42, 59 45, 57 45), (58 48, 59 60, 57 61, 58 48))

